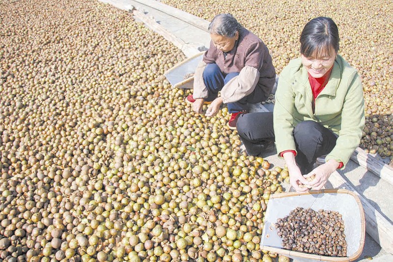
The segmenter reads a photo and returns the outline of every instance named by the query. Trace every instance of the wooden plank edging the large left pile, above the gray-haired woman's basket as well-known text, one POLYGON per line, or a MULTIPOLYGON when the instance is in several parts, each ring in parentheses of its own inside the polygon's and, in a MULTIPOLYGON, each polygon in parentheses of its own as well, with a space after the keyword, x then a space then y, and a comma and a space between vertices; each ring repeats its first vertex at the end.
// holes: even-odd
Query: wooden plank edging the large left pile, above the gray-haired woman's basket
POLYGON ((135 18, 139 19, 141 22, 143 22, 149 29, 152 29, 156 33, 159 33, 162 35, 166 40, 171 42, 173 45, 175 45, 177 48, 179 48, 186 57, 192 57, 200 53, 200 51, 194 47, 193 45, 186 44, 183 40, 180 38, 176 37, 174 34, 169 32, 167 29, 165 29, 163 26, 158 24, 156 21, 151 19, 150 17, 144 15, 142 12, 136 10, 136 9, 131 9, 130 12, 132 11, 133 15, 135 18))

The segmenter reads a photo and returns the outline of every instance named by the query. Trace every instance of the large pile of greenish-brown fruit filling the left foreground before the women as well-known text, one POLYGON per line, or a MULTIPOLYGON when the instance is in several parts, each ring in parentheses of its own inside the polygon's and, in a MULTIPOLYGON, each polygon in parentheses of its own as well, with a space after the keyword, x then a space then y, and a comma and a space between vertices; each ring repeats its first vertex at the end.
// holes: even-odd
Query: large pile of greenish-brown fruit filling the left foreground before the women
MULTIPOLYGON (((194 114, 184 59, 93 0, 0 1, 0 261, 272 261, 264 210, 288 172, 194 114)), ((282 261, 285 258, 281 258, 282 261)))

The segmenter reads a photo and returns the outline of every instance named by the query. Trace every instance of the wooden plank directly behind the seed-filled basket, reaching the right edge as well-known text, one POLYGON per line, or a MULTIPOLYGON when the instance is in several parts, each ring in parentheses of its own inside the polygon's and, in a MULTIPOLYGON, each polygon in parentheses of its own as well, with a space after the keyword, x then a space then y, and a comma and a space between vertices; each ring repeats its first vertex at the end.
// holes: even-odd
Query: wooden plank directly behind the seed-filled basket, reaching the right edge
POLYGON ((361 200, 365 210, 365 230, 386 252, 393 254, 393 225, 378 210, 360 195, 347 181, 333 172, 329 177, 333 188, 343 188, 354 192, 361 200))

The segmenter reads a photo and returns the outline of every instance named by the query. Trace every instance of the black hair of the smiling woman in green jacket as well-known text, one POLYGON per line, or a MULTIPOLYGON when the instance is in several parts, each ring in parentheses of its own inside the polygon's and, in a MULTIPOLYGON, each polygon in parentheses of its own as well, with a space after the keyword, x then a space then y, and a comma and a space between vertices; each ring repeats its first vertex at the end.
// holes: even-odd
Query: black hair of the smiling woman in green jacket
POLYGON ((300 53, 305 57, 330 56, 332 47, 338 52, 339 41, 336 23, 329 17, 317 17, 306 24, 300 35, 300 53))

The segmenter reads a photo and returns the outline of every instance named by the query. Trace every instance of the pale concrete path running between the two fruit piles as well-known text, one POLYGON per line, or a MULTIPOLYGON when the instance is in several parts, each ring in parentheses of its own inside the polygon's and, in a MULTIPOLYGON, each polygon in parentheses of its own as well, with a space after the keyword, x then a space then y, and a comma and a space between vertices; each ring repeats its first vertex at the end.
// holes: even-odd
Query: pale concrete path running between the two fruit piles
MULTIPOLYGON (((195 48, 196 51, 203 51, 206 50, 206 47, 209 47, 210 36, 206 31, 209 24, 208 21, 154 0, 101 1, 127 11, 131 10, 134 6, 137 10, 167 29, 174 37, 183 40, 184 43, 195 48), (188 22, 184 22, 183 20, 188 22)), ((273 104, 265 104, 264 107, 258 104, 254 105, 253 110, 266 111, 267 109, 272 111, 273 107, 273 104)), ((276 151, 266 153, 264 158, 275 166, 283 167, 285 165, 284 161, 277 157, 276 151)), ((340 170, 338 173, 352 188, 364 197, 365 200, 375 208, 375 210, 379 211, 390 225, 392 225, 393 202, 391 200, 393 197, 393 191, 391 190, 391 184, 353 161, 350 161, 347 164, 345 170, 340 170)), ((327 188, 329 188, 329 186, 327 186, 327 188)), ((288 186, 286 190, 289 190, 288 186)), ((392 254, 381 249, 378 243, 366 234, 363 253, 356 261, 366 262, 371 259, 378 262, 393 262, 392 254)))

